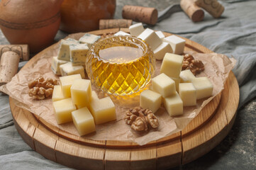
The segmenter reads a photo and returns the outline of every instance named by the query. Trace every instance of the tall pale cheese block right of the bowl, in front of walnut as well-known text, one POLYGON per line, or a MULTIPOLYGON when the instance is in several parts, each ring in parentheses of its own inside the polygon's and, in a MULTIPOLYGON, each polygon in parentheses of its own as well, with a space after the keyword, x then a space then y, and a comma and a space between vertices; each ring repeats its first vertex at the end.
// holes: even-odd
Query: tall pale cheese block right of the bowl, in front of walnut
POLYGON ((182 55, 166 53, 164 60, 162 60, 160 72, 169 77, 179 78, 179 74, 182 71, 182 61, 182 55))

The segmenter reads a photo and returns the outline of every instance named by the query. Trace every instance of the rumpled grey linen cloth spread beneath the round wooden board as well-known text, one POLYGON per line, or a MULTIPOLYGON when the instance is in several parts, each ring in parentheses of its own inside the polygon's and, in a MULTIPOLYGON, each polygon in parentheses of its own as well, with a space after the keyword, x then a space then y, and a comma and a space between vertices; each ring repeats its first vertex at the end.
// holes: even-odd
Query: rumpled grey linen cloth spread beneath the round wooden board
MULTIPOLYGON (((204 21, 193 23, 179 5, 160 12, 160 22, 151 27, 182 35, 213 52, 235 57, 233 72, 240 85, 240 106, 256 91, 256 1, 221 1, 221 18, 205 13, 204 21)), ((20 68, 26 62, 20 63, 20 68)), ((23 142, 13 125, 9 96, 0 94, 0 169, 69 169, 45 159, 23 142)))

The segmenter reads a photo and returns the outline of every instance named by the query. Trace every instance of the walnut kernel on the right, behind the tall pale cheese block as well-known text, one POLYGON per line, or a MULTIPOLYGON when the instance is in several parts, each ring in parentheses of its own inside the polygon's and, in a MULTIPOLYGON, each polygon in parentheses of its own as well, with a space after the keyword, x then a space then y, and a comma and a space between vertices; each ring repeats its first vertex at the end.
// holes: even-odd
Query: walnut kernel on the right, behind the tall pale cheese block
POLYGON ((190 69, 190 71, 196 75, 204 71, 204 63, 201 60, 195 60, 192 55, 184 55, 182 62, 182 70, 190 69))

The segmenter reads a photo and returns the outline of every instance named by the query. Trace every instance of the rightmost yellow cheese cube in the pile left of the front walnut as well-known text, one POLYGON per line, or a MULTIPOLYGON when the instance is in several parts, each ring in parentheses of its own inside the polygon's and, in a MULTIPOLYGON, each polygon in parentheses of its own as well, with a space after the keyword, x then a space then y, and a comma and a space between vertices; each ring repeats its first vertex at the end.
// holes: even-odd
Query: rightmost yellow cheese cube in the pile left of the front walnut
POLYGON ((96 125, 116 120, 116 108, 110 97, 91 100, 89 110, 96 125))

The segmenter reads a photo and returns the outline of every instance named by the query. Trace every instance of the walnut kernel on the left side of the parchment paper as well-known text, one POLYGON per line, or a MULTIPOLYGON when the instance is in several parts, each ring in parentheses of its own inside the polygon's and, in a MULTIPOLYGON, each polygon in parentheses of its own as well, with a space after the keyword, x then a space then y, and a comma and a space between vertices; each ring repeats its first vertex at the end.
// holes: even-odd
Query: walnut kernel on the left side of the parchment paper
POLYGON ((55 85, 57 85, 57 80, 39 77, 38 79, 34 79, 28 83, 28 95, 38 100, 48 98, 52 96, 53 87, 55 85))

